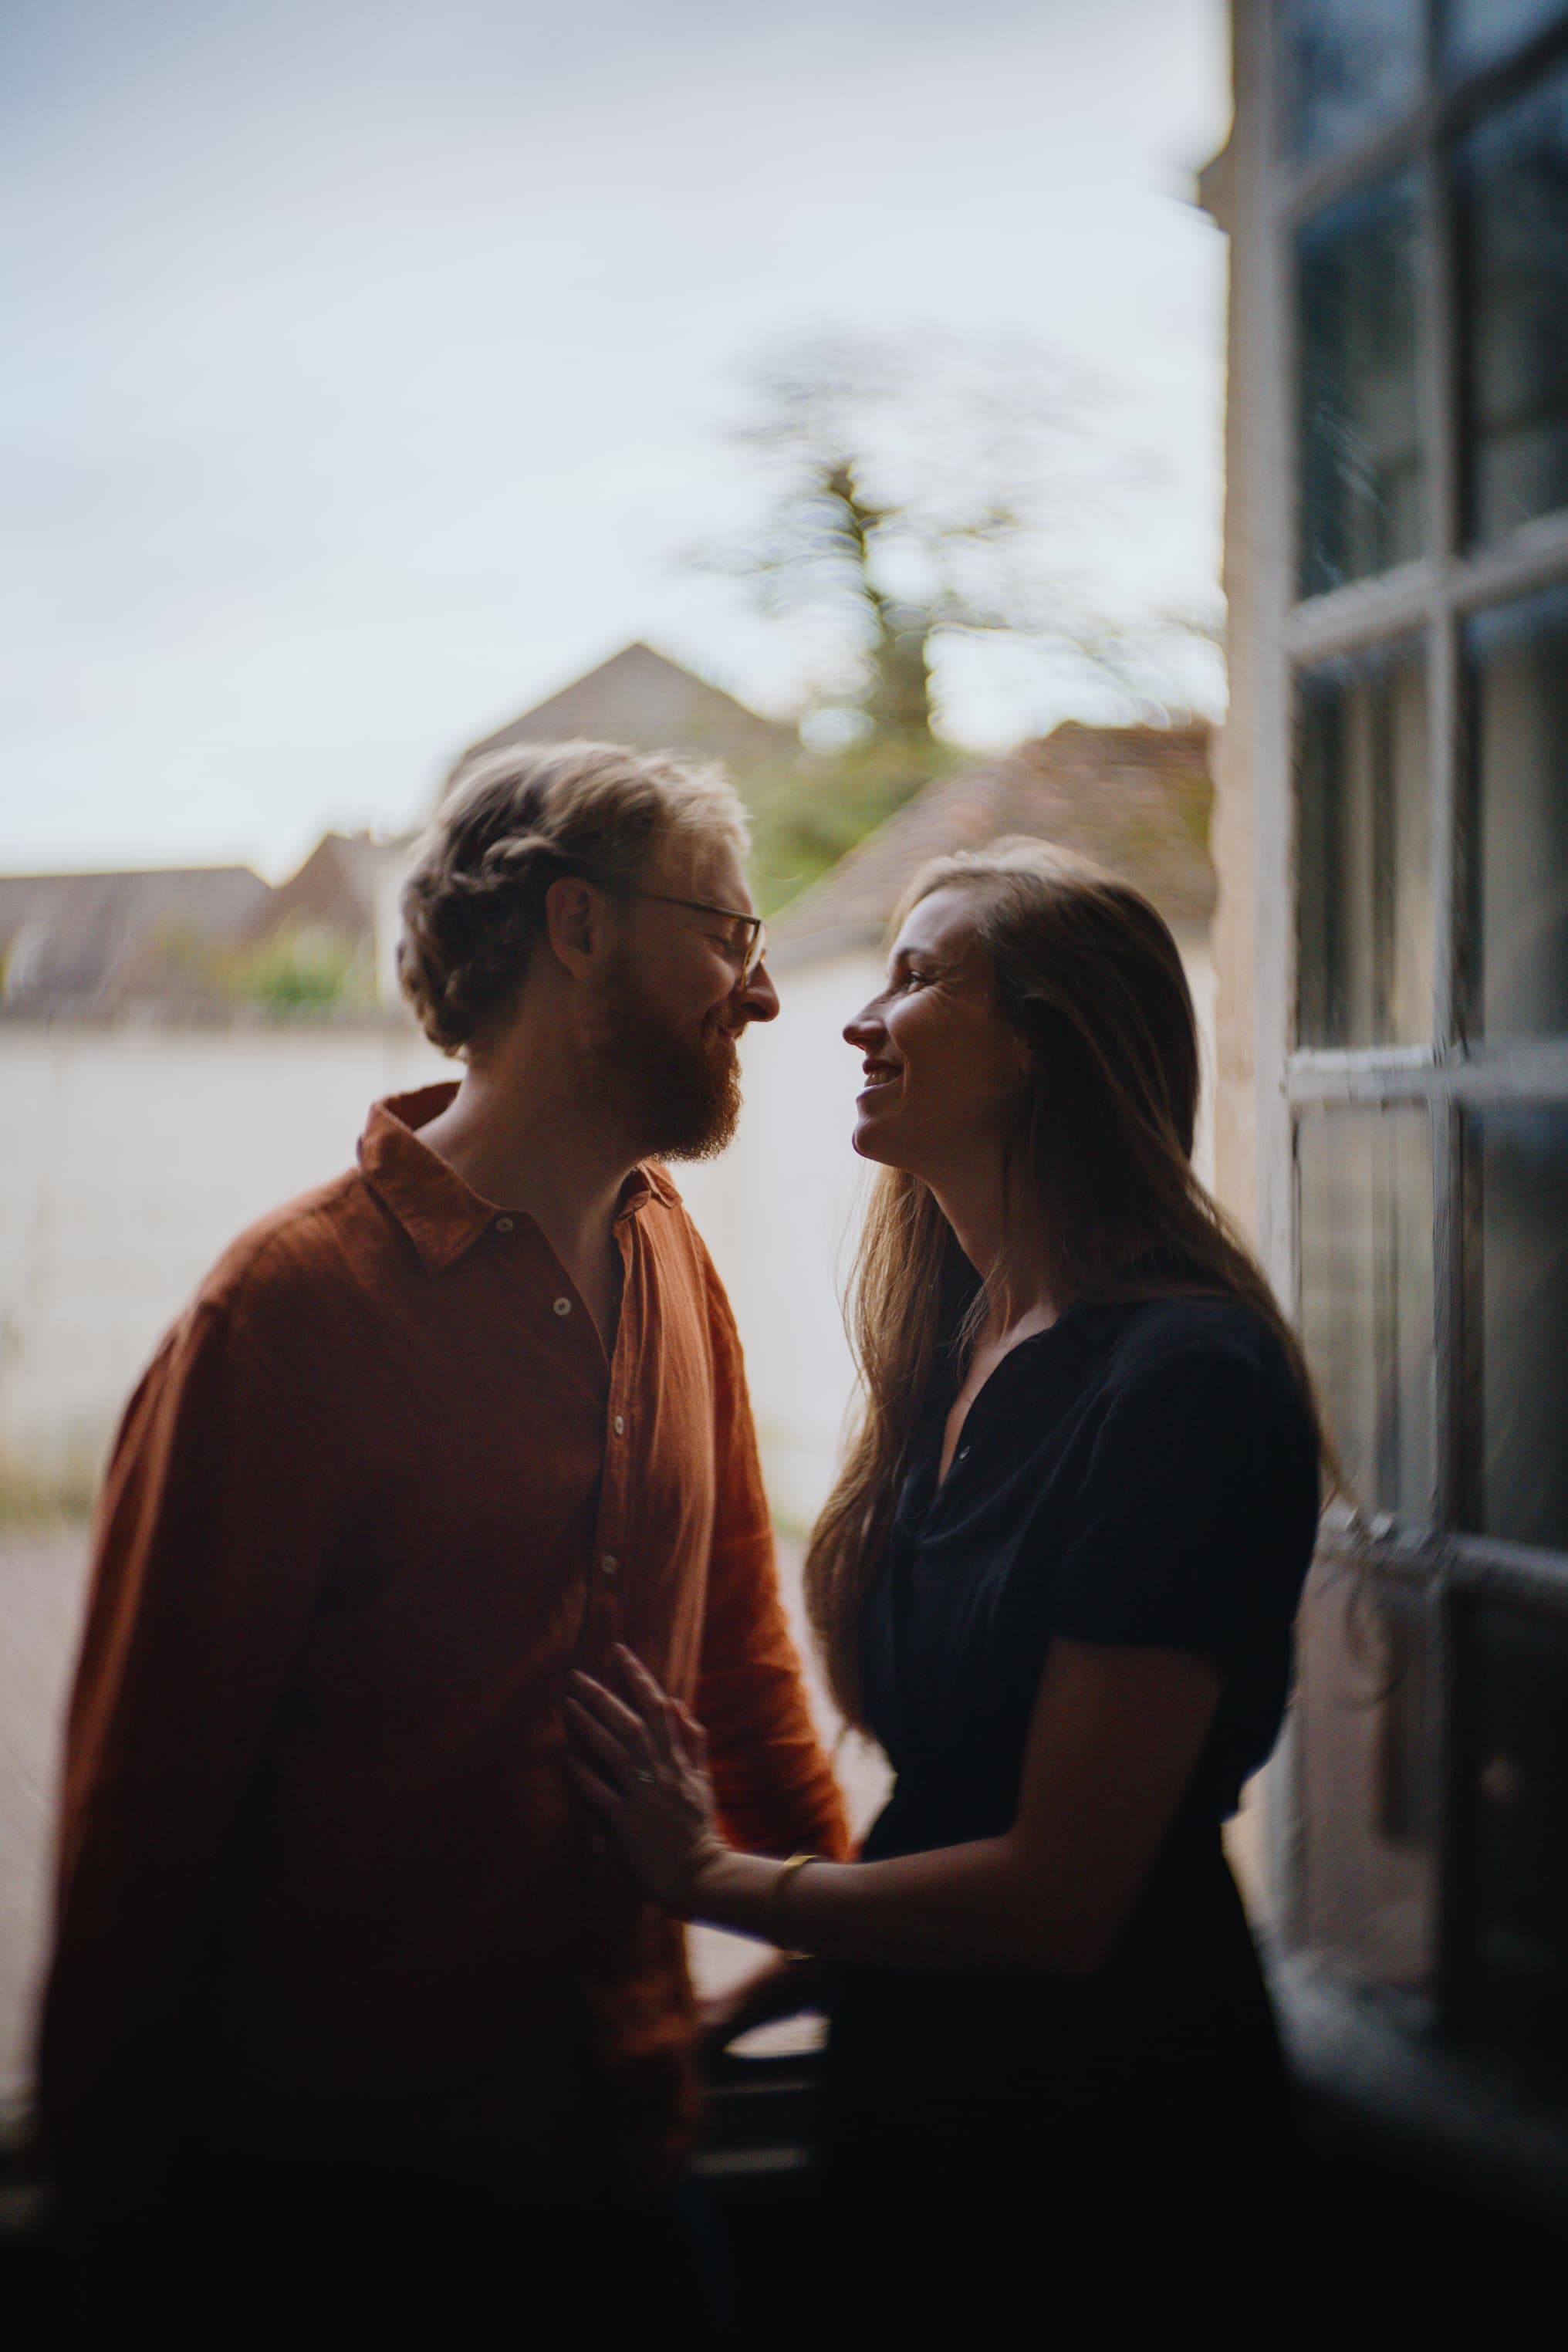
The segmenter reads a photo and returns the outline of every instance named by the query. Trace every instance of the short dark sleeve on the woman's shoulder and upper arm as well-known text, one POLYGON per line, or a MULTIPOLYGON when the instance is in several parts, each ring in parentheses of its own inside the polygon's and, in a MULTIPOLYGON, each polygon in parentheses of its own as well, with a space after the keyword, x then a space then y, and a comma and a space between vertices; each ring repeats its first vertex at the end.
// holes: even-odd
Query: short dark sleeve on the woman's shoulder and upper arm
POLYGON ((1295 1524, 1305 1454, 1241 1355, 1192 1350, 1131 1381, 1093 1446, 1051 1632, 1197 1651, 1229 1672, 1295 1616, 1281 1524, 1295 1524))

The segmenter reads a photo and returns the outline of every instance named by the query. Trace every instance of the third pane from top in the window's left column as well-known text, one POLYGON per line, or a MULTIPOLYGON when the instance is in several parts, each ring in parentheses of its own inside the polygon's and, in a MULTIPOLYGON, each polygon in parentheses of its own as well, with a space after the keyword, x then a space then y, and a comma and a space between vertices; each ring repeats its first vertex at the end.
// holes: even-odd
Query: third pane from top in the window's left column
POLYGON ((1298 1040, 1432 1037, 1432 786, 1418 644, 1300 677, 1298 1040))

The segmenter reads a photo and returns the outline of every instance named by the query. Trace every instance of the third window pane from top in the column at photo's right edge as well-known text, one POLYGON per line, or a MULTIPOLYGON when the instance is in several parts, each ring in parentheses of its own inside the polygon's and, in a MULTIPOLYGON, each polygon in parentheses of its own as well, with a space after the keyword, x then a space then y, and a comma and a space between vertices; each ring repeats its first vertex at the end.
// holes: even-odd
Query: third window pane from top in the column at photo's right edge
POLYGON ((1568 588, 1465 630, 1474 699, 1472 1028, 1568 1033, 1568 588))

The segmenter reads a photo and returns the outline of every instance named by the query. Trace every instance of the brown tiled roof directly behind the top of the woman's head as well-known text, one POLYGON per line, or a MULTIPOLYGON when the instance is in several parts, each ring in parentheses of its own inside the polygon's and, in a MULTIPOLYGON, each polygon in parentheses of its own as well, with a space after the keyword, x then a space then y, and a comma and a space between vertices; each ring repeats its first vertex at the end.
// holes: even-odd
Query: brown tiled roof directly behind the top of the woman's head
POLYGON ((769 922, 792 960, 813 941, 879 938, 929 858, 1009 833, 1077 849, 1147 891, 1166 922, 1213 915, 1208 734, 1185 727, 1079 727, 929 783, 830 875, 769 922))

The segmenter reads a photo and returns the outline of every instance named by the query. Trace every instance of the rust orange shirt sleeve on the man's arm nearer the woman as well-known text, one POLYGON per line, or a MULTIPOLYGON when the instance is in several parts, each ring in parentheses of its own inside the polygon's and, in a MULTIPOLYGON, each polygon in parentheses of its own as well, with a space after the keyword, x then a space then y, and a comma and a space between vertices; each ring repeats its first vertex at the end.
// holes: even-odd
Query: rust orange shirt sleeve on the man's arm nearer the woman
POLYGON ((778 1592, 773 1526, 745 1367, 712 1268, 715 1531, 696 1717, 710 1743, 719 1818, 752 1853, 849 1853, 849 1825, 778 1592))

